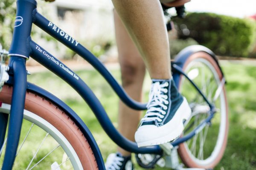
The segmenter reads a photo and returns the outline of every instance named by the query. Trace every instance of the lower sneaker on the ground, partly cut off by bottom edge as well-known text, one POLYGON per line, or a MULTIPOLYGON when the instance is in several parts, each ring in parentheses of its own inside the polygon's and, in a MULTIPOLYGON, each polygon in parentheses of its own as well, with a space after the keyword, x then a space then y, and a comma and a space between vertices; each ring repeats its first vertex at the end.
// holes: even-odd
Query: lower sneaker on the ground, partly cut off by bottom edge
POLYGON ((111 153, 105 163, 106 170, 134 170, 131 156, 122 156, 121 153, 111 153))

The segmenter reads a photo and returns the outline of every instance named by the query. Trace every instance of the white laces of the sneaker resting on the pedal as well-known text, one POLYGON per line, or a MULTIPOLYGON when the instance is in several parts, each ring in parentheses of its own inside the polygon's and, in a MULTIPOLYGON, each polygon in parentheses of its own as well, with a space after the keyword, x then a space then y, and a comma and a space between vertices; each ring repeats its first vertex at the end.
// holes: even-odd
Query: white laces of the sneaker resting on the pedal
POLYGON ((169 101, 167 100, 168 96, 161 93, 167 93, 168 90, 165 87, 167 87, 168 85, 168 82, 165 82, 162 85, 160 85, 160 82, 155 82, 152 84, 149 93, 149 102, 147 105, 148 111, 146 112, 144 118, 141 119, 141 122, 151 122, 155 120, 157 120, 158 122, 162 122, 162 119, 164 118, 163 115, 166 114, 166 111, 163 111, 160 108, 162 107, 166 110, 166 105, 169 104, 169 101))

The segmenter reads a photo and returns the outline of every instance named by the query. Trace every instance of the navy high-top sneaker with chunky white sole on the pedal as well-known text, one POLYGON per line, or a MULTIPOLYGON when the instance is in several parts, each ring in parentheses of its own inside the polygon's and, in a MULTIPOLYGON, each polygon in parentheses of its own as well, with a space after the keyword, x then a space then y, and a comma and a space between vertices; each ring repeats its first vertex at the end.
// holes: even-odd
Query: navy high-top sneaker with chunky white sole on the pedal
POLYGON ((138 147, 176 139, 184 129, 183 120, 191 115, 189 104, 177 91, 173 79, 152 79, 147 108, 135 133, 138 147))

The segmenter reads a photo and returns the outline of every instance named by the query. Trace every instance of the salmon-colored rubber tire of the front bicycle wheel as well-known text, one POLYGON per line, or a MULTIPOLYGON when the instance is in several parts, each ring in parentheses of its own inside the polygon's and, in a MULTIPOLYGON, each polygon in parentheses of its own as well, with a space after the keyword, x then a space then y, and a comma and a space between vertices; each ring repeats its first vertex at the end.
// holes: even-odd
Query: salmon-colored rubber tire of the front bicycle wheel
MULTIPOLYGON (((4 85, 0 92, 0 101, 10 104, 12 87, 4 85)), ((25 110, 34 113, 53 125, 71 144, 84 170, 98 170, 96 159, 87 139, 79 127, 64 111, 32 92, 26 92, 25 110)))

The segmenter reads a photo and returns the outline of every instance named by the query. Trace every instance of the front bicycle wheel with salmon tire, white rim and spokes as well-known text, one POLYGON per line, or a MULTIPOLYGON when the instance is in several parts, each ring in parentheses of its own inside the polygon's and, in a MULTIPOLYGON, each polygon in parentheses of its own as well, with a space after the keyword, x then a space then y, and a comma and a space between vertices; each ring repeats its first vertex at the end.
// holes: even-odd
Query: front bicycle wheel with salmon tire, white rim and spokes
MULTIPOLYGON (((9 113, 11 98, 12 87, 4 85, 0 93, 1 113, 9 113)), ((3 157, 4 153, 0 165, 3 157)), ((90 144, 70 117, 47 99, 26 92, 13 169, 98 170, 98 166, 90 144)))

